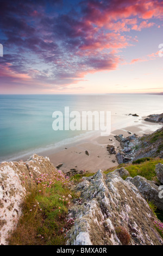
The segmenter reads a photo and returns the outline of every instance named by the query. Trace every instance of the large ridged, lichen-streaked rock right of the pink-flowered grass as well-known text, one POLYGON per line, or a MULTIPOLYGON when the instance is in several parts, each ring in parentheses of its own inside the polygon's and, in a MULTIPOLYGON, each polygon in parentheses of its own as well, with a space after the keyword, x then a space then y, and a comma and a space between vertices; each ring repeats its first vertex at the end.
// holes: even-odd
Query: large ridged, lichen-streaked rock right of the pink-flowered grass
POLYGON ((152 210, 125 170, 104 175, 99 170, 73 188, 80 198, 68 217, 74 225, 67 245, 162 245, 152 210), (80 204, 78 203, 80 202, 80 204))

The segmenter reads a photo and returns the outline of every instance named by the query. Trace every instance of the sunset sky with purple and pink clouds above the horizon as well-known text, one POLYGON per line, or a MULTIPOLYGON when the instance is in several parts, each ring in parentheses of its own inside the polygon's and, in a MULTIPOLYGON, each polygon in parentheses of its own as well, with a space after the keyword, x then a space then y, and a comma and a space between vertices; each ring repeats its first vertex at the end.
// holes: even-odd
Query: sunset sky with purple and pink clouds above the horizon
POLYGON ((0 17, 0 94, 163 92, 163 1, 1 0, 0 17))

